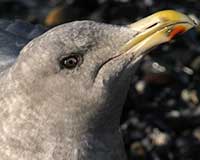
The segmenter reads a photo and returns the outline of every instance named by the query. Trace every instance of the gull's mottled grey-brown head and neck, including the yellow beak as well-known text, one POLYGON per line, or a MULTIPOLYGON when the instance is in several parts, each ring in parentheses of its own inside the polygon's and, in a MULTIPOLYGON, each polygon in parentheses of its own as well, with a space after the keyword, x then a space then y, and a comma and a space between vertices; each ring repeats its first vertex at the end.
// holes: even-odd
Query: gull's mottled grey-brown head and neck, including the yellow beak
POLYGON ((197 24, 173 10, 127 26, 75 21, 0 72, 0 160, 126 160, 120 115, 138 61, 197 24))

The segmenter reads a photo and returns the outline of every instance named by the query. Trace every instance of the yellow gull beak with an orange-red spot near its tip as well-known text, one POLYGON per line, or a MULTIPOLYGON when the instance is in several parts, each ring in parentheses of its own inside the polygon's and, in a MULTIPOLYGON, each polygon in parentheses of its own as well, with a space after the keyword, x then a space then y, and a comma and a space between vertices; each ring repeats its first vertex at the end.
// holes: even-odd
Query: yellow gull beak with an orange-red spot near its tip
POLYGON ((177 11, 157 12, 128 25, 128 28, 136 31, 137 34, 121 48, 121 53, 131 53, 136 58, 140 57, 149 49, 169 42, 177 34, 198 25, 197 21, 177 11))

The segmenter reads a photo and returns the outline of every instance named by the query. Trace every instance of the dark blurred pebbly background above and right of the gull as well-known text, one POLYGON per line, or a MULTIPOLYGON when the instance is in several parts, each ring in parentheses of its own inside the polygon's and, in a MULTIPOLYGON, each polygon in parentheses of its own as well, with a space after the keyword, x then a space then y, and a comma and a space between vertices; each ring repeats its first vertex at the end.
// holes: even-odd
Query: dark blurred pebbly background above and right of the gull
MULTIPOLYGON (((46 29, 90 19, 125 25, 163 9, 200 16, 198 0, 0 0, 0 18, 46 29)), ((200 159, 200 35, 195 29, 140 63, 121 118, 129 160, 200 159)))

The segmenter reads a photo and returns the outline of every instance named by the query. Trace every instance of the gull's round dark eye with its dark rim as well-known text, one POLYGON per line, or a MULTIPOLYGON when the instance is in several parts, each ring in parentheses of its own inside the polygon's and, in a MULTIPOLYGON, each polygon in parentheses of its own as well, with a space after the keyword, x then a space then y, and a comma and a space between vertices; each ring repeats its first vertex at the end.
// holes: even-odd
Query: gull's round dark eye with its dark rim
POLYGON ((81 57, 79 55, 71 55, 68 57, 62 57, 60 60, 60 68, 73 69, 80 64, 81 57))

